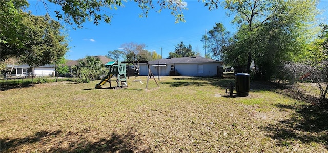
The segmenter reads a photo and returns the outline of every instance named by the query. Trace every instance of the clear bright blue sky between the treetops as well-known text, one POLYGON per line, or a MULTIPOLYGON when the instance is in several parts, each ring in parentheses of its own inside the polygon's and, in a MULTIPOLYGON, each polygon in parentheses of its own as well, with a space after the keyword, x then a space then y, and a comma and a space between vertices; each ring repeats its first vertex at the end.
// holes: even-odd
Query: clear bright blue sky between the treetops
MULTIPOLYGON (((44 15, 43 4, 36 0, 29 0, 30 7, 34 15, 44 15)), ((157 54, 167 58, 169 52, 173 52, 175 46, 183 41, 186 45, 191 45, 194 51, 204 55, 203 43, 200 41, 205 34, 205 30, 211 30, 215 23, 221 22, 228 31, 236 31, 236 25, 231 24, 233 16, 228 17, 226 10, 222 7, 209 11, 202 2, 186 1, 188 10, 183 10, 186 22, 175 23, 175 17, 169 10, 161 13, 151 10, 148 17, 140 18, 142 10, 135 2, 125 2, 125 7, 117 10, 108 10, 113 14, 110 24, 100 23, 98 26, 93 22, 84 23, 83 29, 74 30, 72 26, 65 25, 68 31, 70 50, 66 53, 66 59, 77 60, 86 55, 106 55, 108 51, 120 50, 124 43, 144 43, 146 50, 156 51, 157 54)), ((323 15, 318 16, 321 22, 328 23, 327 11, 328 0, 321 1, 318 5, 322 9, 323 15)), ((55 18, 53 11, 56 6, 49 5, 50 16, 55 18)))

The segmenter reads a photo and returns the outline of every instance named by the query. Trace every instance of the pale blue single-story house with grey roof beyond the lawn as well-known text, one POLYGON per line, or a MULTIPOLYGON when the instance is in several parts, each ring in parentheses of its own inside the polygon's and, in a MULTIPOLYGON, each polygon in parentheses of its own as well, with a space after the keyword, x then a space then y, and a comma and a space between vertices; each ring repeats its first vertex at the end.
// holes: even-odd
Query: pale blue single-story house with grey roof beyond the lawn
MULTIPOLYGON (((148 63, 154 76, 223 76, 223 62, 210 58, 166 58, 148 63)), ((148 75, 146 63, 140 63, 139 75, 148 75)))

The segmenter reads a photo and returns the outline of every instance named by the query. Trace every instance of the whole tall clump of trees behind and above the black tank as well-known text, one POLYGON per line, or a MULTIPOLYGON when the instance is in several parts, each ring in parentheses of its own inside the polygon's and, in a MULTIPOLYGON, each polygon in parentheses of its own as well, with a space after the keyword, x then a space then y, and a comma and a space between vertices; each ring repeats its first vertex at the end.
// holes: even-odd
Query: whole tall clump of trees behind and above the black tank
MULTIPOLYGON (((317 1, 226 1, 225 7, 236 14, 237 33, 228 40, 228 46, 211 44, 218 48, 224 61, 234 63, 240 71, 250 73, 251 63, 261 79, 270 79, 282 61, 304 56, 306 37, 315 20, 317 1)), ((210 30, 211 31, 211 30, 210 30)), ((213 29, 215 31, 215 27, 213 29)), ((224 31, 216 32, 223 36, 224 31)), ((211 33, 208 33, 211 36, 211 33)), ((224 38, 224 37, 223 37, 224 38)), ((215 42, 217 37, 212 38, 215 42)))

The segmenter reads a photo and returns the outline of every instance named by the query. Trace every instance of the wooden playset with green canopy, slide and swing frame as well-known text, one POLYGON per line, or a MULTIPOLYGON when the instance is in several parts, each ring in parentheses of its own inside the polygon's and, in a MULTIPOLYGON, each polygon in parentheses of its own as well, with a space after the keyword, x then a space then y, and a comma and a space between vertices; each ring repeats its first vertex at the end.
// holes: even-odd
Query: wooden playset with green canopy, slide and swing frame
MULTIPOLYGON (((105 85, 107 82, 109 82, 110 89, 118 89, 118 88, 125 88, 128 87, 127 83, 127 69, 126 69, 126 63, 132 63, 134 65, 134 76, 139 76, 139 63, 146 63, 148 65, 148 75, 147 75, 147 84, 146 84, 146 91, 148 88, 148 81, 149 78, 154 78, 154 81, 157 84, 157 87, 159 87, 154 74, 150 70, 150 66, 148 61, 110 61, 107 62, 104 66, 108 67, 108 74, 103 78, 103 80, 100 81, 100 83, 96 84, 96 89, 104 89, 103 85, 105 85), (113 76, 116 76, 116 86, 112 86, 111 84, 111 78, 113 76)), ((140 81, 140 83, 142 83, 140 81)), ((142 83, 143 84, 143 83, 142 83)))

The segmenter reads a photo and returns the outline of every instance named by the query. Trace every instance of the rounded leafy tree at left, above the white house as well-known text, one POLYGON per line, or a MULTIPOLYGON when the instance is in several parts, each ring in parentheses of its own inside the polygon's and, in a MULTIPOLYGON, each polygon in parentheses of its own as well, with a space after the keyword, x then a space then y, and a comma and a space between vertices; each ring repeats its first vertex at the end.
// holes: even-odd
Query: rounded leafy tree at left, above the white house
POLYGON ((28 14, 23 21, 25 28, 22 35, 24 48, 19 50, 22 62, 30 66, 54 64, 68 50, 66 36, 61 33, 62 26, 49 15, 34 16, 28 14))

